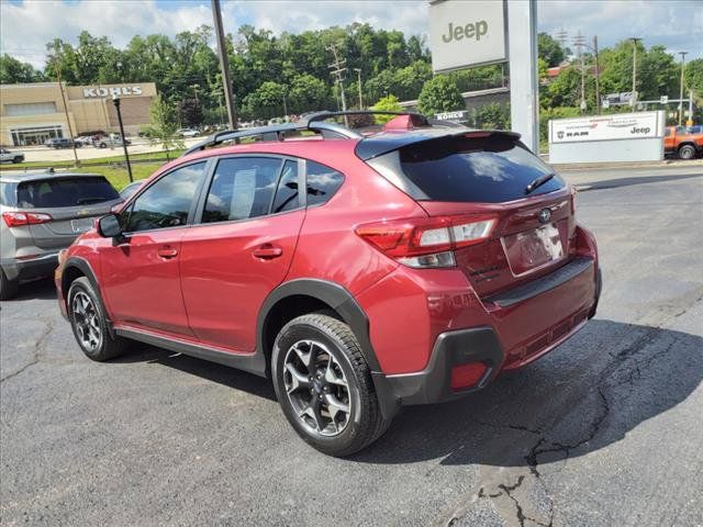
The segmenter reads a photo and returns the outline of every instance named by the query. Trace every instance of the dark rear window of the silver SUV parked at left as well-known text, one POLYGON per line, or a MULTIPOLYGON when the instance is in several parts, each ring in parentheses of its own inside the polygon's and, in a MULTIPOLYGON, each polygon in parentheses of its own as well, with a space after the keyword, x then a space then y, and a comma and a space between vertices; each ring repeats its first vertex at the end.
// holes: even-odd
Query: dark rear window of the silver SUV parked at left
POLYGON ((18 186, 18 206, 22 209, 81 206, 118 199, 118 191, 101 176, 52 178, 18 186))

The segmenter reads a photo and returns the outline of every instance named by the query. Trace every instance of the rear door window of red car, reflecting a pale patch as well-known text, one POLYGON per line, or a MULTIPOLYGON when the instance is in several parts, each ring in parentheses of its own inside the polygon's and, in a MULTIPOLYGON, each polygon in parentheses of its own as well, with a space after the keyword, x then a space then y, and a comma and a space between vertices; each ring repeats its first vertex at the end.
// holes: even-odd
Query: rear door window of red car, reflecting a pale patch
POLYGON ((268 214, 281 160, 270 157, 221 159, 212 178, 203 223, 246 220, 268 214))

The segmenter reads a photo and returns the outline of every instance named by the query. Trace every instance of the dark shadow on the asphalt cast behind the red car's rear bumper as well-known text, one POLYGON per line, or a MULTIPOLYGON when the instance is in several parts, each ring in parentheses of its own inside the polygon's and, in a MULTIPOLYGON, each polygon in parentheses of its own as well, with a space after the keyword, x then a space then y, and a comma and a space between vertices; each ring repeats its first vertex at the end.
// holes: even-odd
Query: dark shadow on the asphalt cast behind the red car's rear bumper
POLYGON ((583 456, 683 402, 703 378, 703 338, 610 321, 481 392, 398 415, 352 459, 531 467, 583 456))

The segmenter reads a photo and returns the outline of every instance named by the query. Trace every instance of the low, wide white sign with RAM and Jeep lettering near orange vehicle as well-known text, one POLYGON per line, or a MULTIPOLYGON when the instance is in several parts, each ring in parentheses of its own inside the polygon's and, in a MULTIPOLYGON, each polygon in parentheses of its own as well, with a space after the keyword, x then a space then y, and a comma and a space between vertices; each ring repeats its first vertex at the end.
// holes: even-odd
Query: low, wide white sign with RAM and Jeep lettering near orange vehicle
POLYGON ((659 137, 658 112, 620 113, 549 121, 549 143, 659 137))

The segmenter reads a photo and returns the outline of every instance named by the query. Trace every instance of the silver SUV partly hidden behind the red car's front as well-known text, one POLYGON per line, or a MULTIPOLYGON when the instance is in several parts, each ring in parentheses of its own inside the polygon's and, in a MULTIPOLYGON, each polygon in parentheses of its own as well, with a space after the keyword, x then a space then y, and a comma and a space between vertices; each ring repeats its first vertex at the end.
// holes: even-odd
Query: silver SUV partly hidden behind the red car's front
POLYGON ((51 276, 58 251, 120 202, 94 173, 0 172, 0 300, 21 280, 51 276))

